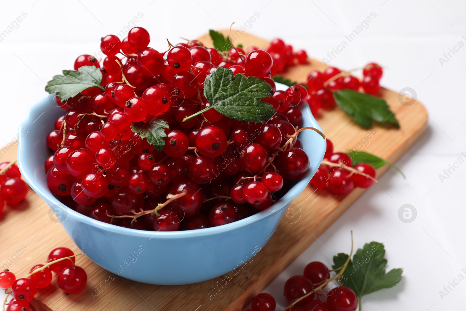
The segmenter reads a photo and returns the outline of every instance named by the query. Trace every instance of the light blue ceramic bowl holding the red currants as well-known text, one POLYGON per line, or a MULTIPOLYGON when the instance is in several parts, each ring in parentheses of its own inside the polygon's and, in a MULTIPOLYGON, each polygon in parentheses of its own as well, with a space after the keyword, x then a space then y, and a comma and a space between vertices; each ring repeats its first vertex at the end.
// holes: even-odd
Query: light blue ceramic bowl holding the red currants
MULTIPOLYGON (((277 89, 286 89, 279 85, 277 89)), ((307 104, 300 106, 303 126, 321 129, 307 104)), ((191 231, 153 232, 96 221, 64 206, 48 190, 44 161, 49 155, 45 137, 63 109, 53 97, 44 98, 27 112, 21 124, 19 167, 27 183, 55 212, 69 236, 92 261, 130 280, 178 285, 197 283, 231 272, 262 249, 277 228, 291 200, 300 194, 319 167, 326 143, 314 131, 299 138, 307 152, 306 176, 271 207, 240 221, 191 231)), ((322 130, 322 129, 321 129, 322 130)))

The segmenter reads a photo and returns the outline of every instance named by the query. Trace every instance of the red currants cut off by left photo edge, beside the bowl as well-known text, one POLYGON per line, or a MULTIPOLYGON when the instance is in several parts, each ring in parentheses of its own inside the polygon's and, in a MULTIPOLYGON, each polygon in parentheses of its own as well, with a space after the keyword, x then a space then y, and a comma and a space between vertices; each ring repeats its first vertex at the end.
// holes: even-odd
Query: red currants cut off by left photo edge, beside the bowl
POLYGON ((0 163, 0 213, 8 204, 16 204, 27 195, 27 185, 21 179, 18 166, 10 162, 0 163))

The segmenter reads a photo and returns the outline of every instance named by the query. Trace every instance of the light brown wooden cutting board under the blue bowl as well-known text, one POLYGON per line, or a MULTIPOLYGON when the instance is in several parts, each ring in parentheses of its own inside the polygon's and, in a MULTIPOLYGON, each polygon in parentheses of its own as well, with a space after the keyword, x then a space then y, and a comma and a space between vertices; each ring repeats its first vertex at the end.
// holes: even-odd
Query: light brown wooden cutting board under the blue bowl
MULTIPOLYGON (((225 31, 224 34, 227 32, 225 31)), ((200 38, 212 46, 209 36, 200 38)), ((241 34, 235 45, 266 47, 268 42, 248 33, 241 34)), ((312 69, 322 70, 325 65, 309 59, 308 65, 290 68, 285 77, 304 82, 312 69)), ((362 150, 376 154, 394 163, 414 144, 426 129, 427 112, 422 104, 406 107, 400 104, 398 94, 380 91, 394 111, 399 130, 377 125, 369 130, 357 126, 340 109, 323 111, 317 116, 325 134, 334 142, 336 151, 362 150)), ((44 138, 45 139, 45 138, 44 138)), ((0 152, 0 160, 16 158, 16 145, 0 152)), ((381 167, 382 175, 389 166, 381 167)), ((375 186, 377 187, 377 186, 375 186)), ((382 191, 382 190, 381 190, 382 191)), ((79 256, 76 264, 88 274, 88 284, 79 294, 65 295, 56 285, 56 277, 47 289, 39 290, 33 301, 36 310, 186 310, 186 311, 239 311, 249 304, 254 293, 260 293, 288 264, 315 241, 353 203, 364 189, 357 188, 344 198, 326 191, 307 187, 292 203, 292 208, 278 226, 277 232, 260 250, 252 262, 239 271, 206 282, 182 286, 158 286, 137 283, 114 276, 79 256), (226 279, 229 279, 226 282, 226 279), (46 306, 47 305, 47 306, 46 306)), ((0 218, 0 264, 16 276, 25 276, 37 263, 44 263, 51 249, 66 246, 75 253, 79 249, 54 218, 47 204, 31 189, 27 199, 16 207, 6 206, 0 218)), ((105 241, 102 241, 103 243, 105 241)), ((155 261, 164 269, 163 256, 155 261)))

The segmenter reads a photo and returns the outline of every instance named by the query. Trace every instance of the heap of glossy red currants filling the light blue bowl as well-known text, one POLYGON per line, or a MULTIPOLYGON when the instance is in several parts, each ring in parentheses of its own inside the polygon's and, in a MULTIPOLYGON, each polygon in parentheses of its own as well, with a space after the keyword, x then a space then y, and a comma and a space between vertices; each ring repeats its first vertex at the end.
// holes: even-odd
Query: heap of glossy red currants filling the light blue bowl
MULTIPOLYGON (((67 112, 47 136, 54 154, 45 161, 45 171, 59 200, 93 219, 127 228, 206 228, 269 207, 288 180, 307 173, 309 159, 299 148, 295 128, 302 122, 296 106, 304 103, 307 90, 294 85, 275 91, 272 56, 259 49, 247 55, 241 48, 220 53, 199 41, 170 44, 159 53, 147 47, 149 41, 140 27, 123 41, 103 37, 105 91, 93 88, 57 100, 67 112), (274 106, 274 116, 265 124, 250 123, 211 109, 183 122, 209 106, 203 83, 220 66, 269 83, 272 96, 263 100, 274 106), (169 125, 160 152, 130 128, 158 119, 169 125), (181 193, 185 196, 156 209, 168 194, 181 193), (141 215, 144 221, 131 219, 141 210, 154 213, 141 215)), ((79 56, 75 69, 85 65, 100 68, 93 56, 79 56)))

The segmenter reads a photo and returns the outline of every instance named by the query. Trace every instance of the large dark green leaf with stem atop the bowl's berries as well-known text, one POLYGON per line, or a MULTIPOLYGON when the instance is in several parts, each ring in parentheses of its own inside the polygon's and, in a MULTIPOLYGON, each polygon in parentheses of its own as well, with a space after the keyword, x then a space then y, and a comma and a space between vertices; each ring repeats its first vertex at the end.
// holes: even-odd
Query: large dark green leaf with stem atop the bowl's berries
POLYGON ((264 119, 274 115, 275 109, 258 99, 270 97, 270 90, 272 87, 263 79, 243 74, 233 78, 233 71, 219 67, 204 81, 204 96, 210 106, 186 117, 183 122, 214 108, 235 120, 264 123, 264 119))

